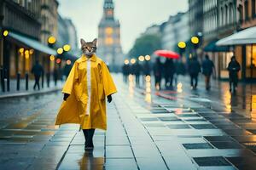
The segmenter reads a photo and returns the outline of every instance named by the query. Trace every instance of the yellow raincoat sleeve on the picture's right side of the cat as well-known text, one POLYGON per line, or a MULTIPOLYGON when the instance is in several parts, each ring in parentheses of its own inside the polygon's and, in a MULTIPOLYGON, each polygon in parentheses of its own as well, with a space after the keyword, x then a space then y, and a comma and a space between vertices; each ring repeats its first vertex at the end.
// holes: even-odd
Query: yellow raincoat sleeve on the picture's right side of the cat
POLYGON ((103 82, 103 88, 104 88, 104 94, 105 96, 108 96, 110 94, 114 94, 117 92, 117 89, 115 87, 115 84, 113 82, 113 78, 111 77, 107 65, 102 62, 102 82, 103 82))

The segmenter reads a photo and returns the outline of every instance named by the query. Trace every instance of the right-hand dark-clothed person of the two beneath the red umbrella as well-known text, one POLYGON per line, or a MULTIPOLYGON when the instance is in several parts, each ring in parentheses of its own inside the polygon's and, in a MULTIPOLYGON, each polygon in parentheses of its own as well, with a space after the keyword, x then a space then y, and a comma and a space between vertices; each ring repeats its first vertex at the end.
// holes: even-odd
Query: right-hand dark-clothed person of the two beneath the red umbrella
POLYGON ((173 75, 175 73, 175 65, 172 59, 166 59, 164 64, 164 73, 166 79, 166 88, 173 88, 173 75))

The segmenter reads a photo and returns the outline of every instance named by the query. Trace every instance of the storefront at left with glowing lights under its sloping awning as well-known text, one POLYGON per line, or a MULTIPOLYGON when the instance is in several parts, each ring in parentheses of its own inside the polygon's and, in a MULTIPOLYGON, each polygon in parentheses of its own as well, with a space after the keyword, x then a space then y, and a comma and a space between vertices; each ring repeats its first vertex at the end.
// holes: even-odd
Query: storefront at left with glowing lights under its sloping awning
POLYGON ((16 77, 20 73, 20 77, 25 77, 26 73, 32 70, 32 65, 36 59, 44 66, 44 71, 50 71, 51 61, 49 56, 56 55, 56 51, 44 45, 37 40, 9 31, 4 41, 3 65, 9 71, 10 77, 16 77))

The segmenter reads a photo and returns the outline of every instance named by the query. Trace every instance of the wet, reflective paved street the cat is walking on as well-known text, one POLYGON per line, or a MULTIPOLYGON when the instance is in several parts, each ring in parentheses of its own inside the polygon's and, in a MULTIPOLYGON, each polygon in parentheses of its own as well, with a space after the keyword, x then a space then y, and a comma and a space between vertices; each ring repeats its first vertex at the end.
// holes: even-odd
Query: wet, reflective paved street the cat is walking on
POLYGON ((0 169, 254 169, 253 151, 214 123, 248 133, 228 118, 195 100, 150 94, 118 75, 114 80, 119 92, 108 104, 108 131, 96 130, 94 150, 84 151, 79 126, 54 126, 61 92, 6 100, 3 112, 25 114, 0 122, 0 169))

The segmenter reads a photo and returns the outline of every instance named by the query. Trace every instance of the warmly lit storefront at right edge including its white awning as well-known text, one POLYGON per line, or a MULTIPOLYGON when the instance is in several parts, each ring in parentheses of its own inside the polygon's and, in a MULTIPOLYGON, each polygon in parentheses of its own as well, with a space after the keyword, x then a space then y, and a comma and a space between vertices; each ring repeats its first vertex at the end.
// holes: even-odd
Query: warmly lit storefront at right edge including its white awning
MULTIPOLYGON (((223 68, 228 65, 230 57, 234 54, 241 65, 239 78, 245 82, 256 81, 256 26, 224 37, 216 44, 230 47, 230 54, 223 54, 219 59, 219 64, 223 68)), ((228 72, 222 71, 221 76, 228 76, 228 72)))

